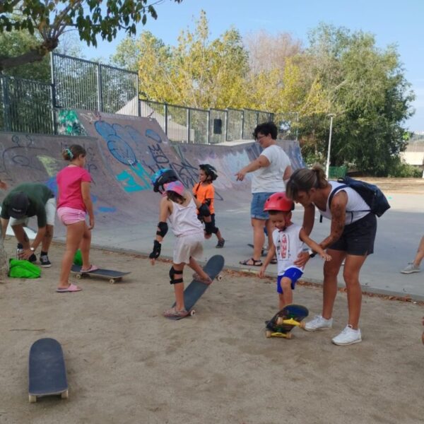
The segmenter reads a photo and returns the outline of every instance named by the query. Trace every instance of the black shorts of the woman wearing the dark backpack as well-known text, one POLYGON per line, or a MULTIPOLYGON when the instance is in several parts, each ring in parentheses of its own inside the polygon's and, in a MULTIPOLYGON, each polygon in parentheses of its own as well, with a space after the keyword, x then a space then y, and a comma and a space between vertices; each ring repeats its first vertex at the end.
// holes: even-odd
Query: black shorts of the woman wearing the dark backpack
POLYGON ((377 232, 377 218, 374 213, 345 225, 340 238, 328 249, 342 250, 347 254, 364 256, 374 252, 375 233, 377 232))

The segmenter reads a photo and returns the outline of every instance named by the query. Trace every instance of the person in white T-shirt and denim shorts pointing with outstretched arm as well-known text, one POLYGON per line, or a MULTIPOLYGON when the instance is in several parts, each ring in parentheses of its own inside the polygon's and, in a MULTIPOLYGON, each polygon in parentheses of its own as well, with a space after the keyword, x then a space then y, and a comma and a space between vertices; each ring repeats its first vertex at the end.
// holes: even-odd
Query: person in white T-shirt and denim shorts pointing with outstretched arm
POLYGON ((285 181, 292 174, 288 155, 276 144, 277 134, 278 129, 273 122, 257 125, 253 136, 264 150, 257 159, 235 174, 237 181, 243 181, 248 172, 253 172, 250 206, 253 256, 245 261, 240 261, 242 265, 262 266, 261 250, 265 240, 264 227, 268 230, 269 246, 272 245, 272 225, 269 222, 268 212, 264 211, 264 204, 271 194, 285 192, 285 181))

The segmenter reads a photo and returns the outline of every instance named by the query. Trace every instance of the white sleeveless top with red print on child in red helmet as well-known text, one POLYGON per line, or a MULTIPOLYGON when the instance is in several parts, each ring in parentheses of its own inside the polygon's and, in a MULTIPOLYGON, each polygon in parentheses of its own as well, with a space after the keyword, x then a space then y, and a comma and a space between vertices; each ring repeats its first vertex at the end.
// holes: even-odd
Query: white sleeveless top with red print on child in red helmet
POLYGON ((300 225, 292 224, 284 231, 273 230, 272 239, 276 247, 279 276, 288 268, 297 268, 303 271, 299 266, 293 265, 293 261, 298 258, 298 254, 305 247, 305 243, 299 238, 301 228, 300 225))

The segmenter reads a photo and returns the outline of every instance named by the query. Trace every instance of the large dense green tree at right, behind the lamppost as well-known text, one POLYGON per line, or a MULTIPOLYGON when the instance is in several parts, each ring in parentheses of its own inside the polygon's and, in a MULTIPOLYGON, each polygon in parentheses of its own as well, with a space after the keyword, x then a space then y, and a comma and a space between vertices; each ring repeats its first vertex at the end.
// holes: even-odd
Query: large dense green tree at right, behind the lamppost
MULTIPOLYGON (((414 98, 394 47, 380 50, 366 33, 321 25, 310 39, 314 74, 336 113, 331 165, 350 165, 368 175, 387 176, 406 148, 402 123, 414 98)), ((329 119, 303 116, 307 155, 326 154, 329 119)))

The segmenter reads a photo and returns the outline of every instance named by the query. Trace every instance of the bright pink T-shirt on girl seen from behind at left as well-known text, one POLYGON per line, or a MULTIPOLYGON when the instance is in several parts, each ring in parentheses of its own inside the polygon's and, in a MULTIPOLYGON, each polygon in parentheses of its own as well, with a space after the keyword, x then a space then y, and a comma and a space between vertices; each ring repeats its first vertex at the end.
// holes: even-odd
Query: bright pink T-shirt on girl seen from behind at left
POLYGON ((67 166, 57 173, 56 181, 60 196, 57 208, 66 206, 86 212, 81 182, 91 182, 89 172, 79 166, 67 166))

